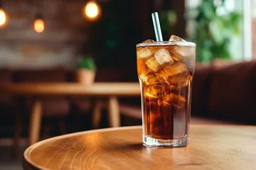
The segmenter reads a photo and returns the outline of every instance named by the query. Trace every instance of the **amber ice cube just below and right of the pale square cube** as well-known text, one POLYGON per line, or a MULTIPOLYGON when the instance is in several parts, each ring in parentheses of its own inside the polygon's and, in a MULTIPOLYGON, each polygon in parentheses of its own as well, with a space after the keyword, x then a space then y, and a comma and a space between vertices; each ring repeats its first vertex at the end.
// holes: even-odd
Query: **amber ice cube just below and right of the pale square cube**
POLYGON ((165 74, 166 77, 171 77, 176 74, 181 74, 183 72, 186 72, 187 68, 186 65, 182 62, 175 62, 174 64, 168 64, 166 65, 162 70, 161 74, 165 74))

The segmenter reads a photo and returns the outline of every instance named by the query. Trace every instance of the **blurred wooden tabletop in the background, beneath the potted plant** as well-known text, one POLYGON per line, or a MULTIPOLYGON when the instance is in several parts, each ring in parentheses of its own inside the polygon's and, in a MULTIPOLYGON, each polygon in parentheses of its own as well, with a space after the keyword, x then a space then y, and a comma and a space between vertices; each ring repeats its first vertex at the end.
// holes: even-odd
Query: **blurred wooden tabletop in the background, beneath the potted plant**
POLYGON ((14 95, 87 95, 87 96, 139 96, 139 83, 13 83, 0 84, 1 94, 14 95))

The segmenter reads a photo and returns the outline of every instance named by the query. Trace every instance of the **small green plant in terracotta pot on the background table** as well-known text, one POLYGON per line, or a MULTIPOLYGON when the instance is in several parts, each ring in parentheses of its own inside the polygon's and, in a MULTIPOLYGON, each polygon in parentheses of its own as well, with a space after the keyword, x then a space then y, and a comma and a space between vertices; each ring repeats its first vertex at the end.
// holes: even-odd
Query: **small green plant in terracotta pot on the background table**
POLYGON ((83 57, 78 60, 77 81, 81 84, 92 85, 95 80, 96 66, 90 57, 83 57))

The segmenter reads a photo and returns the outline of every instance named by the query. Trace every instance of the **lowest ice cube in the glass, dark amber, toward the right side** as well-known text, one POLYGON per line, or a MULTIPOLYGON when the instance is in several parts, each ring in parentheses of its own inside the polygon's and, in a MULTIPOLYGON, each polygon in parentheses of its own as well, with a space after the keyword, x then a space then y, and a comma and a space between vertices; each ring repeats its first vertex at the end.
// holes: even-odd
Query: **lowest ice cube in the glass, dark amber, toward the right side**
POLYGON ((171 105, 176 108, 183 108, 186 103, 186 98, 184 96, 178 95, 178 94, 168 94, 164 96, 164 104, 171 105))

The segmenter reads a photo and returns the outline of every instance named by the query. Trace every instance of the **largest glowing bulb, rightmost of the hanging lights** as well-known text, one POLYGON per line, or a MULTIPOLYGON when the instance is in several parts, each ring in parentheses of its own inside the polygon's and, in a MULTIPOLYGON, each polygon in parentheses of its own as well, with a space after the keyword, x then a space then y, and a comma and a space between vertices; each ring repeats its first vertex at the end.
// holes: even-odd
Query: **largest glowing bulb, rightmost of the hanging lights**
POLYGON ((100 16, 100 6, 95 1, 88 1, 82 10, 82 14, 85 18, 94 21, 100 16))

